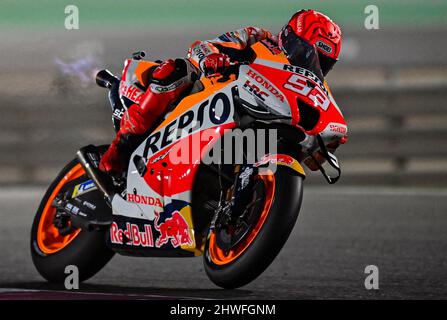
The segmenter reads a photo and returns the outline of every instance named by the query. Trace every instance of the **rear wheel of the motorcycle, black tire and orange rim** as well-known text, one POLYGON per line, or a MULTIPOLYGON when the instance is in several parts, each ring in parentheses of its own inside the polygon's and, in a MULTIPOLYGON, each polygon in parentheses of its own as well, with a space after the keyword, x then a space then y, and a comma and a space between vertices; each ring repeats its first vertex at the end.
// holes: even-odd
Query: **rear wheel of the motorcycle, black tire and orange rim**
POLYGON ((71 161, 48 188, 34 218, 31 256, 37 271, 50 282, 63 282, 68 265, 78 268, 80 281, 86 280, 114 255, 106 246, 105 231, 68 228, 69 232, 61 232, 55 226, 56 208, 52 205, 53 200, 67 183, 83 175, 85 171, 79 162, 71 161))

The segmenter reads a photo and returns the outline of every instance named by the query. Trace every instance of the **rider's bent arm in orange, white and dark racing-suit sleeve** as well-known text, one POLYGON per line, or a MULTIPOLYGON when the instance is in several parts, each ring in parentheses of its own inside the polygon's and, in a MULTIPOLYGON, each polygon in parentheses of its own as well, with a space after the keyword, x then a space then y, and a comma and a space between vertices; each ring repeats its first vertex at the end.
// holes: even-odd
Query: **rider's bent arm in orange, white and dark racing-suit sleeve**
MULTIPOLYGON (((196 66, 212 53, 223 53, 232 60, 239 60, 241 53, 258 41, 271 38, 269 31, 257 27, 246 27, 227 32, 213 40, 196 41, 188 50, 188 58, 196 66)), ((242 55, 243 56, 243 55, 242 55)))

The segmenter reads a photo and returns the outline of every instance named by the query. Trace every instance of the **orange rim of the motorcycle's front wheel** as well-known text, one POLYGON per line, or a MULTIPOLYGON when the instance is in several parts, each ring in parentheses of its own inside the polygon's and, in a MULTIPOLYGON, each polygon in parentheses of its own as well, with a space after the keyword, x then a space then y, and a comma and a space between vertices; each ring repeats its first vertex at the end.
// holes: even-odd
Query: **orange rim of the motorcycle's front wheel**
POLYGON ((262 207, 262 212, 257 220, 256 224, 253 226, 251 231, 238 243, 234 248, 230 249, 228 252, 223 251, 216 242, 216 234, 212 232, 209 239, 208 253, 211 261, 216 265, 226 265, 228 263, 236 260, 242 253, 244 253, 250 244, 256 239, 256 236, 261 231, 262 226, 270 212, 270 208, 273 203, 273 198, 275 196, 275 176, 273 173, 267 175, 258 175, 259 179, 263 180, 265 187, 265 201, 262 207))

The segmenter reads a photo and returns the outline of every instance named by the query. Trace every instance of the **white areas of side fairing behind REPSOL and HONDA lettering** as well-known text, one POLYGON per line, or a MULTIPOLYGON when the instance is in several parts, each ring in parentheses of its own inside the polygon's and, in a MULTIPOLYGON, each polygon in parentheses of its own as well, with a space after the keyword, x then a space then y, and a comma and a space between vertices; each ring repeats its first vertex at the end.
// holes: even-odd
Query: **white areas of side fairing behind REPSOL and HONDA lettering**
MULTIPOLYGON (((140 219, 154 220, 155 212, 162 212, 173 199, 190 202, 190 190, 173 194, 172 197, 163 196, 153 190, 137 171, 133 159, 135 156, 142 157, 146 164, 157 161, 169 162, 169 147, 179 139, 201 130, 234 122, 234 102, 231 91, 234 86, 234 82, 230 83, 179 116, 168 116, 168 124, 154 131, 143 141, 130 157, 127 172, 127 197, 128 200, 130 197, 134 201, 114 201, 113 214, 132 217, 138 214, 140 219), (135 210, 135 206, 141 209, 142 214, 135 210)), ((153 177, 160 184, 163 183, 159 175, 154 174, 153 177)), ((170 179, 166 176, 164 178, 170 179)), ((177 183, 177 181, 172 181, 172 183, 177 183)))

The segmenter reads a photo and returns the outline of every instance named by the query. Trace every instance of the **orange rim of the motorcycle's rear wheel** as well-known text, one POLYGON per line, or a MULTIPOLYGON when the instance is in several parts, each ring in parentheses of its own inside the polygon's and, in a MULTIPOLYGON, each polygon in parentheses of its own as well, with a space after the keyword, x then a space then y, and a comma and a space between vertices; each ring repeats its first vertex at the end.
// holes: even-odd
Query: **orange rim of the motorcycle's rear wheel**
POLYGON ((75 165, 56 185, 53 192, 45 204, 45 207, 40 216, 39 225, 37 227, 37 245, 39 249, 46 254, 56 253, 65 248, 74 238, 79 234, 81 229, 62 236, 59 230, 54 226, 53 220, 56 215, 56 208, 51 205, 56 195, 62 187, 85 174, 84 169, 80 164, 75 165))

